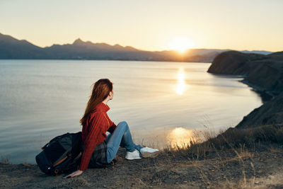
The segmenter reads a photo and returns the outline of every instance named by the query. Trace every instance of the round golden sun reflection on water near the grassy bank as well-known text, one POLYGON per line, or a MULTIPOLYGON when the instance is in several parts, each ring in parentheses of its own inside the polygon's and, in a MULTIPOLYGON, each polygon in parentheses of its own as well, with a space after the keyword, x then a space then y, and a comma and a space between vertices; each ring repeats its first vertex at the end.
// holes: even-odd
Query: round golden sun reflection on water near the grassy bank
POLYGON ((173 148, 184 148, 189 147, 191 142, 199 142, 199 137, 196 136, 192 130, 187 130, 183 127, 176 127, 174 130, 168 133, 167 141, 170 147, 173 148))

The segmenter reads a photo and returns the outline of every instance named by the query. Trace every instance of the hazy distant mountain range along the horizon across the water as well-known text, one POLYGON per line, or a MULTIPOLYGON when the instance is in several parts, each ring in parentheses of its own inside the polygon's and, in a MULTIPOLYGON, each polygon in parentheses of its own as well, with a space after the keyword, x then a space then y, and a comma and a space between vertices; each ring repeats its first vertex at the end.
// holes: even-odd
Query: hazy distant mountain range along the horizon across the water
MULTIPOLYGON (((75 40, 72 44, 38 47, 0 33, 0 59, 108 59, 172 62, 212 62, 216 55, 229 50, 191 49, 183 54, 174 50, 146 51, 134 47, 75 40)), ((268 51, 241 51, 268 55, 268 51)))

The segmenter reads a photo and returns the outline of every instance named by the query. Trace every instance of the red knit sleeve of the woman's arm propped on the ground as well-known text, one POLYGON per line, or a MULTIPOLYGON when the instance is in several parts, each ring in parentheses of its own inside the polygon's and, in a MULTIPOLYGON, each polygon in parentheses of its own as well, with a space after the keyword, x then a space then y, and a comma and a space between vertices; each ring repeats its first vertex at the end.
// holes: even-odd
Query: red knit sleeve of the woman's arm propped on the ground
POLYGON ((102 113, 95 113, 93 118, 89 122, 88 134, 86 139, 83 142, 83 155, 81 157, 81 165, 79 166, 79 170, 86 171, 88 168, 89 161, 91 160, 91 155, 93 154, 94 148, 97 145, 97 137, 98 134, 103 132, 103 128, 101 124, 103 123, 103 115, 102 113))

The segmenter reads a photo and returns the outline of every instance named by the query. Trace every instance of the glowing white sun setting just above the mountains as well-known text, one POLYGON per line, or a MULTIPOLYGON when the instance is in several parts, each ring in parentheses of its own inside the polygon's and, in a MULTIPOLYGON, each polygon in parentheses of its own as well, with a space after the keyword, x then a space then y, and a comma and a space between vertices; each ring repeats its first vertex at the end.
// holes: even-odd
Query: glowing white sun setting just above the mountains
POLYGON ((185 50, 189 50, 194 46, 195 44, 190 38, 182 36, 175 37, 168 43, 170 50, 177 50, 179 52, 185 52, 185 50))

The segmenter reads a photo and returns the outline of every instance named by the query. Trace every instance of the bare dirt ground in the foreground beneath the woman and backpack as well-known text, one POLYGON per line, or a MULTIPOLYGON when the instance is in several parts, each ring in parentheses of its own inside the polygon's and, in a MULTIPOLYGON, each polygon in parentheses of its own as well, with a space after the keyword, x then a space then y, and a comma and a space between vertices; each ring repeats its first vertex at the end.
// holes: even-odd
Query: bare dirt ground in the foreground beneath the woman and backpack
POLYGON ((283 188, 283 151, 231 152, 192 161, 173 153, 88 169, 76 178, 45 176, 36 165, 0 164, 0 188, 283 188), (221 157, 221 158, 220 158, 221 157))

